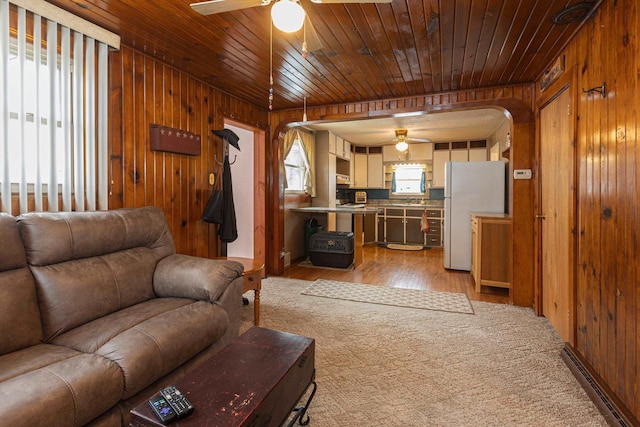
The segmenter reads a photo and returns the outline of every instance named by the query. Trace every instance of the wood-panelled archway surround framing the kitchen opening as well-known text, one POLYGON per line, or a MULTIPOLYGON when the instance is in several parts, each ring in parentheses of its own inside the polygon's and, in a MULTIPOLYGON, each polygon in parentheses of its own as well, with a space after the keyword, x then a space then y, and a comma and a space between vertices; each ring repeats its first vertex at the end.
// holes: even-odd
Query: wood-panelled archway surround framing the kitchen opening
MULTIPOLYGON (((512 147, 510 154, 509 176, 513 176, 514 169, 532 169, 535 148, 533 85, 513 85, 499 88, 486 88, 458 92, 447 92, 417 97, 378 100, 371 102, 336 104, 330 106, 310 107, 307 109, 308 121, 340 121, 361 120, 366 118, 389 117, 394 114, 424 111, 436 113, 438 111, 465 110, 472 108, 495 107, 507 111, 513 124, 512 147)), ((272 157, 278 159, 281 155, 280 135, 290 126, 299 124, 303 115, 300 109, 276 111, 271 114, 271 124, 274 129, 272 140, 272 157)), ((268 266, 272 274, 284 271, 283 260, 279 258, 280 249, 284 246, 284 185, 282 179, 281 162, 271 162, 273 182, 278 185, 271 187, 272 205, 270 210, 274 215, 272 226, 271 259, 268 266)), ((534 231, 533 231, 533 180, 510 180, 510 206, 512 215, 512 281, 510 292, 511 302, 515 305, 532 307, 534 304, 534 231)))

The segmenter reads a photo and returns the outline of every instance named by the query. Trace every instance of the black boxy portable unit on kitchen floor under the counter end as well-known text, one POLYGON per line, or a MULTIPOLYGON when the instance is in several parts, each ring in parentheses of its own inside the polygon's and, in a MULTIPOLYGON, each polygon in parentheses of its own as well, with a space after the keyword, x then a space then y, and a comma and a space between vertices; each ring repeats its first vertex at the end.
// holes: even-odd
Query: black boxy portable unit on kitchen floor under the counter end
POLYGON ((309 241, 311 263, 323 267, 347 268, 353 264, 353 233, 320 231, 309 241))

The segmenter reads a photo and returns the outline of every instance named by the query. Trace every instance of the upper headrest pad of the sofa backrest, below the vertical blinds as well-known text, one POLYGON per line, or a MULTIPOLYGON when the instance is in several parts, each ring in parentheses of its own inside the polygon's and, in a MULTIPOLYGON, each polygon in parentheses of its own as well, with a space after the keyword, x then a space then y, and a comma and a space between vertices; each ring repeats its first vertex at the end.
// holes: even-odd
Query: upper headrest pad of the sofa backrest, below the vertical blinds
POLYGON ((30 265, 49 265, 145 246, 175 253, 164 213, 155 207, 94 212, 32 212, 18 217, 30 265))

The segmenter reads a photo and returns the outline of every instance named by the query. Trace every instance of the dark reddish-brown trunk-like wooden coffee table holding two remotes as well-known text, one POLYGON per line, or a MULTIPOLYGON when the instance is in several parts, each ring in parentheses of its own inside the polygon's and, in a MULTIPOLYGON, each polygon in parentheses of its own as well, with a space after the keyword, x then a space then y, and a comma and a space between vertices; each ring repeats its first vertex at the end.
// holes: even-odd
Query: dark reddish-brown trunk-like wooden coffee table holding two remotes
MULTIPOLYGON (((195 410, 171 425, 276 427, 288 419, 289 426, 306 425, 316 390, 315 341, 254 326, 175 385, 195 410)), ((130 415, 132 426, 163 425, 146 400, 130 415)))

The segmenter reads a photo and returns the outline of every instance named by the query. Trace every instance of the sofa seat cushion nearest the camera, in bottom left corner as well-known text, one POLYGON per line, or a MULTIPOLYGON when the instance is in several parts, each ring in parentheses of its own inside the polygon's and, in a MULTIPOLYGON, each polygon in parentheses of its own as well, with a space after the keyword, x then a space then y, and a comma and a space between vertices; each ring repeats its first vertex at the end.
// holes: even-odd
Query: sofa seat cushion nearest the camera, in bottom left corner
MULTIPOLYGON (((71 350, 69 350, 71 351, 71 350)), ((0 382, 7 426, 81 426, 116 405, 122 397, 122 372, 93 354, 72 357, 0 382)))

